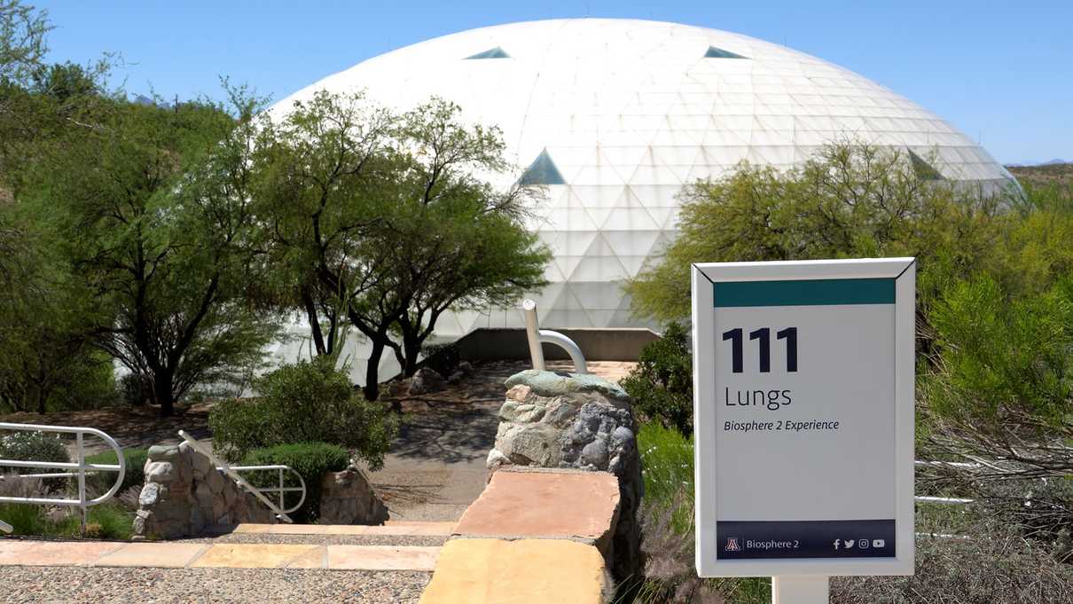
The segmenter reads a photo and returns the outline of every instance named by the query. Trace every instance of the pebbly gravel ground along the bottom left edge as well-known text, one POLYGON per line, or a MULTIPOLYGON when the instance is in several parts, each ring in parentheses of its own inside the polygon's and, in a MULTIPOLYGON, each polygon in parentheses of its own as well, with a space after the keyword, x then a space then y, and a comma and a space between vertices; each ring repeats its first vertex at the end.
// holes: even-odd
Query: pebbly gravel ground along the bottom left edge
POLYGON ((2 566, 5 604, 417 602, 430 573, 2 566))

